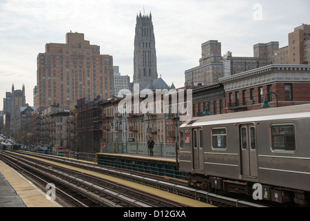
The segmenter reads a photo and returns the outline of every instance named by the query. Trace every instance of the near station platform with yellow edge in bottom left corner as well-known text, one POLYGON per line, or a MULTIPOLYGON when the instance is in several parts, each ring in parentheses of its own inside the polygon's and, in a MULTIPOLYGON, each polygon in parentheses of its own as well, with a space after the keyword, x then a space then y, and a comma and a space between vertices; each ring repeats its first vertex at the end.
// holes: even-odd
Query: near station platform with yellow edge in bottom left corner
POLYGON ((0 161, 0 207, 61 207, 25 177, 0 161))

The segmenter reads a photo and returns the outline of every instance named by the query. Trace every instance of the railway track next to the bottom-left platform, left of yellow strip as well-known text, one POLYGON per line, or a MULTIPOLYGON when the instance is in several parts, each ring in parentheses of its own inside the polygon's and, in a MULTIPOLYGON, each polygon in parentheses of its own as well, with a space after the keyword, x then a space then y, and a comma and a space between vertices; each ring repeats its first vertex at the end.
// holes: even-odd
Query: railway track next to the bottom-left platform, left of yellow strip
MULTIPOLYGON (((91 201, 96 206, 107 207, 180 207, 178 202, 158 198, 150 193, 137 191, 128 186, 116 184, 107 180, 99 179, 92 175, 63 169, 54 164, 34 160, 30 157, 1 153, 1 158, 8 159, 19 168, 35 171, 53 182, 57 182, 82 195, 87 202, 91 201)), ((7 162, 8 162, 7 160, 7 162)), ((30 172, 33 173, 33 172, 30 172)), ((80 197, 81 198, 81 197, 80 197)), ((83 202, 83 199, 80 199, 83 202)))

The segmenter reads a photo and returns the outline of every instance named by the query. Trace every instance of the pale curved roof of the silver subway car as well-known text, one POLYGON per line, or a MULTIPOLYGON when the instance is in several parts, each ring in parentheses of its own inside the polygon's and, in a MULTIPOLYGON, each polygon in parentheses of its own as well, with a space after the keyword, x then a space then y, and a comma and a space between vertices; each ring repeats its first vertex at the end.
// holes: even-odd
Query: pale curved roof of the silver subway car
POLYGON ((261 108, 256 111, 241 111, 223 115, 194 117, 185 122, 180 128, 187 126, 206 126, 214 124, 238 124, 261 122, 271 119, 298 119, 310 117, 310 104, 285 106, 279 108, 261 108))

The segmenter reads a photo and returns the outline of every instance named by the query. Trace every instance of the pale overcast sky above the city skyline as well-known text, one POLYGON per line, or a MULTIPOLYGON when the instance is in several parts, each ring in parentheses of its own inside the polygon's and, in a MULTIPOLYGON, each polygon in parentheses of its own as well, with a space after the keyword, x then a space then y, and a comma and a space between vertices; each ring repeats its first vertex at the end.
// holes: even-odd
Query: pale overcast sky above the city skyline
POLYGON ((185 70, 199 65, 205 41, 220 41, 222 55, 245 57, 257 43, 287 46, 288 33, 310 23, 309 8, 309 0, 0 0, 0 110, 12 84, 25 84, 33 104, 37 55, 47 43, 65 43, 70 30, 112 55, 132 81, 136 15, 152 12, 158 76, 178 88, 185 70))

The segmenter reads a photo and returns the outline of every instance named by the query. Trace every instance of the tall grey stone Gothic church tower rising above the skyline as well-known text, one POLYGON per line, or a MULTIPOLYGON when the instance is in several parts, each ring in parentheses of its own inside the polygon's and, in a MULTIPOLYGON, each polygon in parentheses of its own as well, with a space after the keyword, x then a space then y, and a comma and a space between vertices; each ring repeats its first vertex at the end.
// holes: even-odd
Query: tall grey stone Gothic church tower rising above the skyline
POLYGON ((136 35, 134 37, 134 84, 142 90, 158 79, 156 49, 152 15, 136 16, 136 35))

